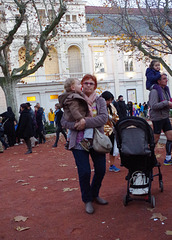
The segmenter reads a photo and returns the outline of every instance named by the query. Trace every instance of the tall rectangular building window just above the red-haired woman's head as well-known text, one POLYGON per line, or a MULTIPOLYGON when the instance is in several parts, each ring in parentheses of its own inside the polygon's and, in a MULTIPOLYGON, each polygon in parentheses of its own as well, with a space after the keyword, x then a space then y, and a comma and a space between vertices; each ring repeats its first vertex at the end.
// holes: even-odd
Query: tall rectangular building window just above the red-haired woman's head
POLYGON ((104 52, 103 51, 94 52, 94 72, 95 73, 104 73, 105 72, 104 52))

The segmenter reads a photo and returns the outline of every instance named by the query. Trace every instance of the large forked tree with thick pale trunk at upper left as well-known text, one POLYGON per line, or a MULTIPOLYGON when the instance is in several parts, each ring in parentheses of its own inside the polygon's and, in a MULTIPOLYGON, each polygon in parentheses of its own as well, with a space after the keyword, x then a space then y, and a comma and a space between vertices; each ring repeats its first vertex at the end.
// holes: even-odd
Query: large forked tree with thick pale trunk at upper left
POLYGON ((0 86, 6 102, 18 112, 16 84, 43 66, 52 39, 63 32, 61 20, 66 12, 65 0, 9 0, 0 3, 0 86), (40 7, 45 9, 45 16, 40 7), (16 41, 24 54, 19 65, 11 52, 16 41))

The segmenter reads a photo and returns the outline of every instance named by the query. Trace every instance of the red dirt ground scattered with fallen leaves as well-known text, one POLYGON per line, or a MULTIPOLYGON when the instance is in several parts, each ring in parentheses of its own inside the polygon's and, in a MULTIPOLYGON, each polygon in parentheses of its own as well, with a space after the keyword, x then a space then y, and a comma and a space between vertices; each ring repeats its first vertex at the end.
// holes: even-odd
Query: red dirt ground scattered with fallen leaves
MULTIPOLYGON (((0 154, 0 239, 6 240, 168 240, 172 236, 172 166, 161 171, 164 192, 161 193, 158 178, 154 178, 152 195, 156 207, 132 201, 123 205, 126 194, 127 169, 119 173, 108 171, 101 187, 100 196, 109 201, 106 206, 96 205, 95 213, 85 213, 81 201, 77 169, 70 151, 64 150, 63 138, 57 148, 52 148, 53 138, 47 139, 24 155, 26 146, 14 146, 0 154), (66 181, 60 181, 61 179, 66 181), (23 184, 23 185, 22 185, 23 184), (73 191, 63 191, 65 188, 73 191), (161 222, 150 219, 153 213, 167 217, 161 222), (28 217, 25 222, 15 222, 14 217, 28 217), (29 227, 17 231, 16 227, 29 227)), ((163 145, 156 149, 158 160, 163 163, 163 145)), ((117 167, 120 161, 116 162, 117 167)), ((155 169, 156 170, 156 169, 155 169)), ((154 171, 156 172, 156 171, 154 171)))

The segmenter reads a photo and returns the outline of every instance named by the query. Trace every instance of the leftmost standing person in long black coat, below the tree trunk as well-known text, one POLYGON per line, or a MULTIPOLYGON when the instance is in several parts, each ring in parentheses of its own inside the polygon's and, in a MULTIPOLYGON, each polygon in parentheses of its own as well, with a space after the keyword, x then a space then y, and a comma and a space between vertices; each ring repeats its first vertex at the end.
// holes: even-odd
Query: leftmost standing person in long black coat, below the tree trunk
POLYGON ((10 147, 14 146, 16 143, 16 133, 15 133, 15 115, 12 111, 11 107, 7 107, 7 111, 0 114, 1 117, 3 117, 4 124, 4 134, 7 135, 8 144, 10 147))

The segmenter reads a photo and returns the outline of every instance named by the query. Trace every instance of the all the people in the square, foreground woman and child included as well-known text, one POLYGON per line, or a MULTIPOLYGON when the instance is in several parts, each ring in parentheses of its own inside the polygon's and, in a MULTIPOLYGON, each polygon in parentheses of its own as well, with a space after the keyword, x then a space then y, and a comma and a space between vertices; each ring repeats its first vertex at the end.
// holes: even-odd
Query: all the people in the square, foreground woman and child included
MULTIPOLYGON (((167 75, 160 73, 158 61, 152 61, 146 71, 146 87, 150 90, 149 108, 150 120, 153 123, 155 143, 158 142, 161 131, 167 137, 165 165, 172 165, 171 142, 172 127, 169 120, 169 111, 172 108, 172 99, 167 87, 167 75)), ((65 148, 72 151, 78 169, 79 184, 82 201, 85 203, 85 211, 88 214, 94 212, 92 202, 106 205, 108 202, 99 196, 100 187, 106 172, 106 158, 109 158, 109 171, 119 172, 115 166, 117 149, 114 124, 128 116, 147 117, 148 104, 125 103, 123 96, 119 95, 115 101, 109 91, 97 95, 97 79, 86 74, 81 82, 75 78, 69 78, 64 84, 65 92, 59 96, 59 103, 55 104, 55 111, 50 109, 48 119, 50 125, 56 125, 56 140, 52 147, 58 146, 59 134, 62 133, 65 140, 65 148), (63 109, 63 111, 62 111, 63 109), (112 143, 109 154, 100 153, 93 148, 94 130, 98 129, 107 135, 112 143), (68 131, 67 131, 67 130, 68 131), (94 175, 91 181, 90 157, 94 165, 94 175)), ((45 119, 43 108, 37 103, 34 111, 30 103, 20 105, 19 122, 16 121, 11 107, 0 114, 0 141, 4 148, 14 146, 24 139, 27 145, 26 154, 32 153, 32 147, 36 143, 45 143, 44 126, 45 119), (7 136, 7 141, 3 136, 7 136)))

